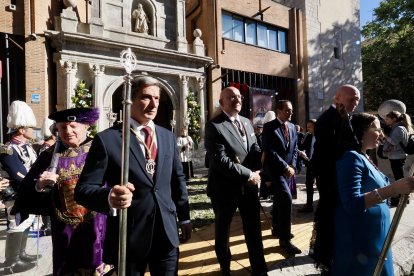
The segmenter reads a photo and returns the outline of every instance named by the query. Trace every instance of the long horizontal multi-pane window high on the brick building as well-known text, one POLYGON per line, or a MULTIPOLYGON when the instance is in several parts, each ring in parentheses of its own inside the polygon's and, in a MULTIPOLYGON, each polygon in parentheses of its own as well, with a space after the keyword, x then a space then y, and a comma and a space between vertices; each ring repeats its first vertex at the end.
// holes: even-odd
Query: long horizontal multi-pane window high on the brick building
POLYGON ((229 12, 222 12, 222 37, 287 53, 287 31, 229 12))

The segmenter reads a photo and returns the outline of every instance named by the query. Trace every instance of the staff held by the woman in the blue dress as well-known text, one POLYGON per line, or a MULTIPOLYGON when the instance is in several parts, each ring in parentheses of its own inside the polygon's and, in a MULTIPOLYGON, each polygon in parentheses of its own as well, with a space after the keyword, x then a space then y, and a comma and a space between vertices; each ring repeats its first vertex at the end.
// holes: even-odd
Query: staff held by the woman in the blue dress
POLYGON ((397 231, 398 224, 400 223, 401 216, 404 212, 405 206, 407 206, 408 202, 408 195, 401 195, 400 201, 398 202, 397 209, 395 210, 394 217, 392 218, 392 222, 390 225, 390 229, 388 230, 387 237, 385 238, 384 245, 381 249, 380 256, 378 258, 377 265, 375 266, 373 276, 380 276, 382 267, 384 266, 385 259, 387 258, 388 250, 390 249, 391 242, 394 238, 395 232, 397 231))

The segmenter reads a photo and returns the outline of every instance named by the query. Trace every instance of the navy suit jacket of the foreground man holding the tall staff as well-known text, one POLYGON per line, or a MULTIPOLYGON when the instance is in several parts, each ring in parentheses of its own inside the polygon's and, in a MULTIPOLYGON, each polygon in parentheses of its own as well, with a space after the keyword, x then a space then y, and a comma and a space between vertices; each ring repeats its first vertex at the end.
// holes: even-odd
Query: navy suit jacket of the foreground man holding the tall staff
MULTIPOLYGON (((127 257, 145 256, 154 234, 155 213, 160 212, 165 233, 178 246, 177 219, 189 220, 189 204, 176 139, 169 130, 156 126, 157 167, 154 179, 145 171, 145 157, 135 135, 131 133, 129 182, 135 186, 132 205, 128 208, 127 257)), ((121 182, 122 126, 98 133, 92 143, 85 166, 75 189, 75 200, 101 213, 110 210, 108 196, 112 186, 121 182), (107 187, 105 187, 107 185, 107 187)), ((119 216, 107 219, 104 261, 117 263, 119 216)))

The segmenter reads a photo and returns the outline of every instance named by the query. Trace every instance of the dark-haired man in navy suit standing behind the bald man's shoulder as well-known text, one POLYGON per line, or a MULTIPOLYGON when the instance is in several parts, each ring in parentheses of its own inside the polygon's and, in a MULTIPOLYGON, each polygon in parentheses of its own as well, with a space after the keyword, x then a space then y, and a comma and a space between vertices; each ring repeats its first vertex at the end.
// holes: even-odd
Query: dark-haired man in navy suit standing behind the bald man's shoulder
POLYGON ((279 237, 280 246, 289 255, 302 251, 291 243, 292 194, 289 181, 295 175, 298 136, 292 117, 292 103, 280 100, 276 104, 276 119, 263 127, 264 170, 272 180, 272 234, 279 237))

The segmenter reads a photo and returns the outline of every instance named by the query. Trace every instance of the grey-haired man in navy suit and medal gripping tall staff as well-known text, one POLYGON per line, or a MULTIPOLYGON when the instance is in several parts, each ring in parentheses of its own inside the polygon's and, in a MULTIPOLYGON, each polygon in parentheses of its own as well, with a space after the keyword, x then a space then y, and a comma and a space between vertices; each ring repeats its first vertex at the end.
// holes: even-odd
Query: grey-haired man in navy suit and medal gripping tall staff
MULTIPOLYGON (((88 209, 109 213, 128 208, 126 275, 176 275, 178 229, 181 241, 191 236, 185 175, 176 139, 154 124, 160 86, 151 77, 135 79, 131 87, 129 183, 121 180, 122 127, 98 133, 75 190, 75 200, 88 209)), ((119 217, 107 219, 103 259, 117 266, 119 217)))

